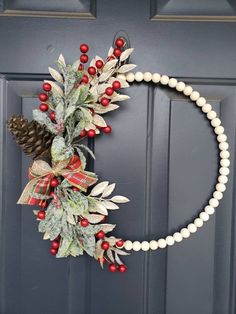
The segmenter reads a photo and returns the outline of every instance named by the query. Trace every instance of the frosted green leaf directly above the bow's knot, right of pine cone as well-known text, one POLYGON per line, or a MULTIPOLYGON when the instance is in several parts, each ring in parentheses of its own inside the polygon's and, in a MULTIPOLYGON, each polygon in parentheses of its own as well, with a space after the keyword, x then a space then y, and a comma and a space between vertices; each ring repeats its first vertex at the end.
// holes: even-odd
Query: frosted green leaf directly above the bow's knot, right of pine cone
POLYGON ((72 157, 74 150, 72 146, 67 146, 62 136, 56 136, 53 139, 51 155, 54 162, 62 161, 72 157))

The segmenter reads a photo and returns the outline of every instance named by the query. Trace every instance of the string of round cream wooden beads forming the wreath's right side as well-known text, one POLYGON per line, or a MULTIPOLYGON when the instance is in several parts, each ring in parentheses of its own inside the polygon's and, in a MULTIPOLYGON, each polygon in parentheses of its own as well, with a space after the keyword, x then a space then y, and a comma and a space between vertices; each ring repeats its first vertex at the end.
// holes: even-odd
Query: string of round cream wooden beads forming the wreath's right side
POLYGON ((213 196, 209 199, 208 204, 204 207, 203 211, 199 214, 193 222, 189 223, 186 228, 175 232, 173 235, 168 235, 165 239, 157 239, 151 241, 130 241, 126 240, 124 248, 127 251, 148 251, 148 250, 157 250, 165 248, 166 246, 172 246, 175 243, 181 242, 183 239, 187 239, 191 234, 195 233, 199 228, 201 228, 204 222, 208 221, 210 216, 215 213, 215 208, 219 206, 220 200, 223 198, 223 193, 226 190, 226 183, 228 182, 229 175, 229 166, 230 166, 230 153, 229 153, 229 144, 227 141, 227 136, 224 133, 224 128, 221 124, 221 120, 217 117, 217 113, 212 110, 212 106, 206 102, 206 99, 200 95, 198 91, 194 91, 193 88, 189 85, 186 85, 184 82, 178 82, 175 78, 169 78, 167 75, 160 75, 159 73, 150 72, 136 72, 128 73, 125 76, 127 82, 132 83, 142 82, 153 82, 155 84, 168 85, 170 88, 175 88, 178 92, 182 92, 185 96, 188 96, 190 100, 195 102, 196 106, 200 107, 202 112, 205 113, 210 124, 214 129, 216 139, 219 142, 219 157, 220 157, 220 168, 219 168, 219 177, 218 182, 215 185, 215 191, 213 196))

